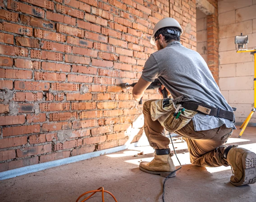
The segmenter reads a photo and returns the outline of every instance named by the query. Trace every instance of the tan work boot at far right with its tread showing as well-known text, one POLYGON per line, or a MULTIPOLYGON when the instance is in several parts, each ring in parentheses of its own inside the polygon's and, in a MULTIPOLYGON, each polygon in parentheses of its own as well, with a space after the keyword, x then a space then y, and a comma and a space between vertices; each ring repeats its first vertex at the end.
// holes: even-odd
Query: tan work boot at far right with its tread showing
POLYGON ((231 184, 242 186, 256 182, 256 154, 248 149, 229 146, 225 149, 224 158, 233 169, 231 184))

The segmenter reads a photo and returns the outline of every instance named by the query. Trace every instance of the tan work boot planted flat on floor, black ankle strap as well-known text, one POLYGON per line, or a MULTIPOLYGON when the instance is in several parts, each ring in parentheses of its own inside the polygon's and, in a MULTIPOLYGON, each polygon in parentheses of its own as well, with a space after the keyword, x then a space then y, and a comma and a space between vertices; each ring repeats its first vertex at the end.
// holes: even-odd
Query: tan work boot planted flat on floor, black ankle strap
MULTIPOLYGON (((167 177, 172 171, 175 171, 174 162, 170 153, 170 149, 155 149, 155 158, 151 162, 142 161, 140 163, 140 170, 150 174, 160 174, 162 177, 167 177), (162 155, 160 155, 162 154, 162 155)), ((169 177, 176 176, 174 172, 169 177)))

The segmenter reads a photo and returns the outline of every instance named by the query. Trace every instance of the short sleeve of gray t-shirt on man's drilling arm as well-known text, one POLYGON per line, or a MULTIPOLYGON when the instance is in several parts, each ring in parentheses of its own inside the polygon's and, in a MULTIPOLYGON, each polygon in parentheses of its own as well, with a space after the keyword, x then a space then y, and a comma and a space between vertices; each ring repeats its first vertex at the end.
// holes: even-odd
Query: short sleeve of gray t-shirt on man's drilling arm
POLYGON ((153 82, 159 75, 159 66, 155 57, 151 54, 151 56, 146 60, 144 69, 142 70, 142 79, 153 82))

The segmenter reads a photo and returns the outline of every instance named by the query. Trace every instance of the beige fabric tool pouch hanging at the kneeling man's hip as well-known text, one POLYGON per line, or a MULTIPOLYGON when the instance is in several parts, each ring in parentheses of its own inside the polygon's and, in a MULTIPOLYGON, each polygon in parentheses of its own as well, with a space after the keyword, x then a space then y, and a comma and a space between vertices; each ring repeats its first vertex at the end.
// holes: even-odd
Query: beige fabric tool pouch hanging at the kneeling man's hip
MULTIPOLYGON (((151 102, 151 118, 153 121, 158 120, 160 124, 169 132, 175 132, 187 123, 197 114, 195 111, 184 110, 181 111, 178 119, 174 113, 178 107, 177 102, 182 101, 183 97, 175 99, 165 98, 151 102)), ((182 108, 181 108, 182 109, 182 108)))

